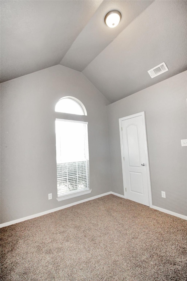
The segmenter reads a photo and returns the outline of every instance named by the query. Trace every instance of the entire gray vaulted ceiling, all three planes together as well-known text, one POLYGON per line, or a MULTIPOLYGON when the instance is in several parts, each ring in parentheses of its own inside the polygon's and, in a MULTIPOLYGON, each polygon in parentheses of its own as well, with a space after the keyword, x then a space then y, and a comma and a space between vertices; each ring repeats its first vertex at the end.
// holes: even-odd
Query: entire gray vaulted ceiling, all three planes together
POLYGON ((115 102, 187 69, 187 1, 3 0, 1 82, 56 64, 115 102), (119 10, 116 28, 105 14, 119 10), (151 78, 165 62, 169 71, 151 78))

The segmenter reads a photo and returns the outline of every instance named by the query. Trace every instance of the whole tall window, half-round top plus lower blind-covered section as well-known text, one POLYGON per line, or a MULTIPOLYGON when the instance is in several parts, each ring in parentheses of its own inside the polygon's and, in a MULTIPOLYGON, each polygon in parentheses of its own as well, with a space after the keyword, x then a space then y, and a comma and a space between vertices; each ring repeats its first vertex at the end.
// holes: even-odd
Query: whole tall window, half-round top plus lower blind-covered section
MULTIPOLYGON (((87 115, 82 102, 74 97, 60 99, 55 111, 87 115)), ((64 119, 64 116, 65 114, 63 114, 63 119, 58 117, 55 121, 58 201, 91 192, 88 122, 64 119)))

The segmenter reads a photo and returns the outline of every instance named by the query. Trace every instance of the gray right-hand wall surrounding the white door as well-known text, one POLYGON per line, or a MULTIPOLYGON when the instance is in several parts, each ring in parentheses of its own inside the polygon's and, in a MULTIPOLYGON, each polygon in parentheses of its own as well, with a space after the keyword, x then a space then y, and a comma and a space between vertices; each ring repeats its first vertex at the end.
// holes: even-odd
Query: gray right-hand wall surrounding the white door
POLYGON ((112 191, 124 194, 119 118, 145 111, 153 205, 181 215, 187 215, 187 147, 181 147, 181 139, 187 138, 186 75, 182 72, 107 106, 112 191))

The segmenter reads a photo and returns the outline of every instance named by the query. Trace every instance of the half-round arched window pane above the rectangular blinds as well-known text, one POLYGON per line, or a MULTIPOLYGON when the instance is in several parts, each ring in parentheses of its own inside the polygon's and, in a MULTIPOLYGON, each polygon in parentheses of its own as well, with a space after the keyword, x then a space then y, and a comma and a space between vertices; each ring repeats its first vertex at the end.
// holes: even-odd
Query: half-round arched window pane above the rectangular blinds
POLYGON ((77 115, 87 115, 86 108, 75 97, 63 97, 55 107, 56 112, 71 113, 77 115))

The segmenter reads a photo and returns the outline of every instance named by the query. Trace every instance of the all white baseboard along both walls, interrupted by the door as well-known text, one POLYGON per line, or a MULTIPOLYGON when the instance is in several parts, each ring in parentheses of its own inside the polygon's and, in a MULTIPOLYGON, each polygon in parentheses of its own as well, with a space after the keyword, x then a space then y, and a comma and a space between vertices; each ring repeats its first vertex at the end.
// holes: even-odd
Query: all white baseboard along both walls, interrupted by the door
MULTIPOLYGON (((67 205, 64 205, 64 206, 61 206, 61 207, 58 207, 58 208, 47 210, 45 212, 34 214, 34 215, 31 215, 31 216, 28 216, 28 217, 22 217, 22 218, 20 218, 18 220, 12 220, 11 222, 2 223, 2 224, 0 224, 0 228, 8 226, 8 225, 13 225, 13 224, 18 223, 18 222, 23 222, 24 220, 30 220, 30 219, 33 219, 34 217, 40 217, 40 216, 43 216, 43 215, 46 215, 46 214, 49 214, 49 213, 53 213, 53 212, 56 212, 56 211, 59 211, 59 210, 62 210, 62 209, 65 209, 65 208, 68 208, 68 207, 71 207, 71 206, 83 203, 83 202, 86 202, 86 201, 90 201, 90 200, 93 200, 93 199, 96 199, 96 198, 99 198, 99 197, 102 197, 102 196, 105 196, 105 195, 109 195, 109 194, 113 194, 115 196, 124 198, 124 195, 115 193, 113 191, 109 191, 109 192, 106 192, 106 193, 103 193, 103 194, 99 194, 99 195, 96 195, 96 196, 93 196, 93 197, 90 197, 90 198, 87 198, 87 199, 83 199, 83 200, 71 203, 71 204, 67 204, 67 205)), ((157 207, 157 206, 152 206, 151 208, 153 208, 155 210, 158 210, 158 211, 161 211, 163 213, 166 213, 166 214, 169 214, 169 215, 173 215, 175 217, 180 217, 181 219, 187 220, 187 216, 184 216, 184 215, 181 215, 181 214, 177 214, 177 213, 174 213, 174 212, 169 211, 169 210, 162 209, 162 208, 157 207)))

